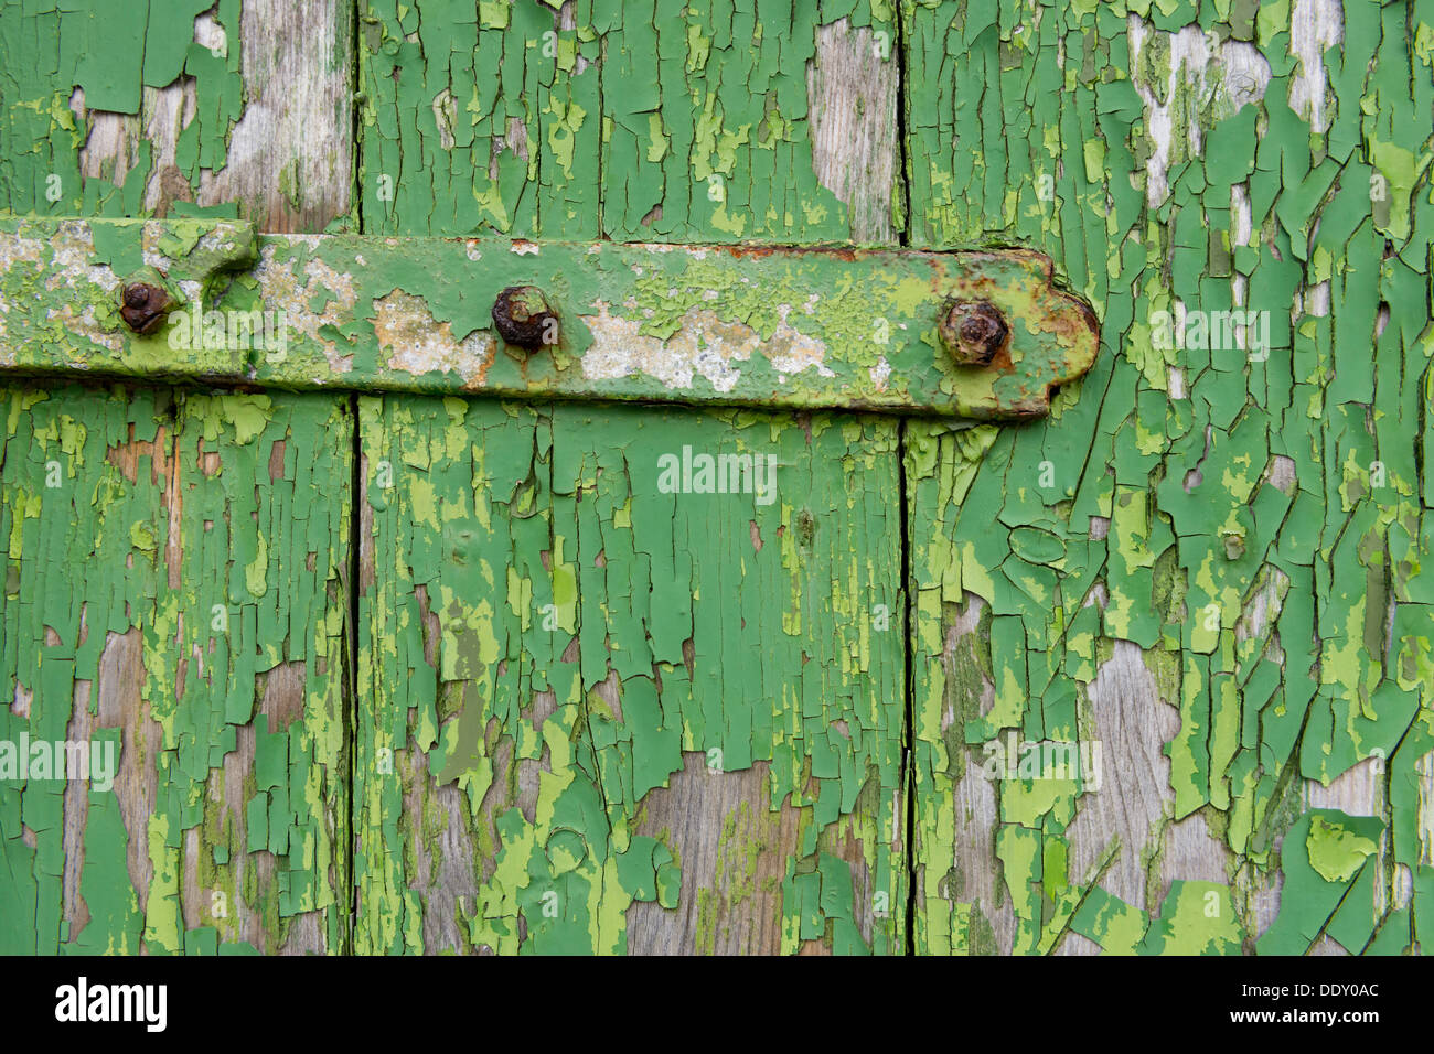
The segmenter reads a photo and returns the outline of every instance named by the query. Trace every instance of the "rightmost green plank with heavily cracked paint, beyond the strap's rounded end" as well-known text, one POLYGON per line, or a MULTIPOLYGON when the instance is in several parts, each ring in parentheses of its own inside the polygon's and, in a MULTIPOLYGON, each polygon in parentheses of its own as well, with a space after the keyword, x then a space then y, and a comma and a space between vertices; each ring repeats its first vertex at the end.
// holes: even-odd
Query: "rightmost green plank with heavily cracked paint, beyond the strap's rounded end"
POLYGON ((902 11, 912 242, 1103 324, 1048 422, 911 426, 918 951, 1427 939, 1434 6, 902 11))

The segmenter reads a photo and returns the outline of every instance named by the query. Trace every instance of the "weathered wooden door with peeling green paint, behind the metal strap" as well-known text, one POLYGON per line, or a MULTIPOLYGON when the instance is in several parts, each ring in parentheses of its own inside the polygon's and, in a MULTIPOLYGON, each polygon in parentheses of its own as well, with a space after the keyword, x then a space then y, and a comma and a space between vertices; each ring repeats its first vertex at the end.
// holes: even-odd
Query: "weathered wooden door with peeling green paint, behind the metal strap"
POLYGON ((796 7, 3 4, 14 214, 1027 247, 1101 326, 1028 423, 11 373, 0 740, 118 767, 0 779, 4 949, 1420 948, 1434 3, 796 7))

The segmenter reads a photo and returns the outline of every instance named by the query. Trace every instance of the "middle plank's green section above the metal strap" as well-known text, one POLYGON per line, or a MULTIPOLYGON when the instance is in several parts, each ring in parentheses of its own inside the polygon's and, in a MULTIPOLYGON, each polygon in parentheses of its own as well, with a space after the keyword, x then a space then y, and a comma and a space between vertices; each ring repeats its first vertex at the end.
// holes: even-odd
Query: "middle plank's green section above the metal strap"
POLYGON ((364 227, 891 241, 889 4, 366 0, 364 227))

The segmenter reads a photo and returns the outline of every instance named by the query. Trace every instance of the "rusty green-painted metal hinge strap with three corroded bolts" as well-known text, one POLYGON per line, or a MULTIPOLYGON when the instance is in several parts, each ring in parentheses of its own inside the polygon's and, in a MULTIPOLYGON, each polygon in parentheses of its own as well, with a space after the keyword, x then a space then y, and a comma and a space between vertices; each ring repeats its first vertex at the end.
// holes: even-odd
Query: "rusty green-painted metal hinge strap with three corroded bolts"
POLYGON ((1022 250, 6 218, 0 262, 0 371, 29 374, 1025 419, 1098 346, 1022 250))

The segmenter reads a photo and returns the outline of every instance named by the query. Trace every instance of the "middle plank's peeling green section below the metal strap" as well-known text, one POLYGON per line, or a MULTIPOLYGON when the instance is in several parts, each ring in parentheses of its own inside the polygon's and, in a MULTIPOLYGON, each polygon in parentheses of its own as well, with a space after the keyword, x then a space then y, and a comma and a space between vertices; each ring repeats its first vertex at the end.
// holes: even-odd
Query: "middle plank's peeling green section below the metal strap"
POLYGON ((360 422, 358 951, 903 949, 893 423, 360 422))

